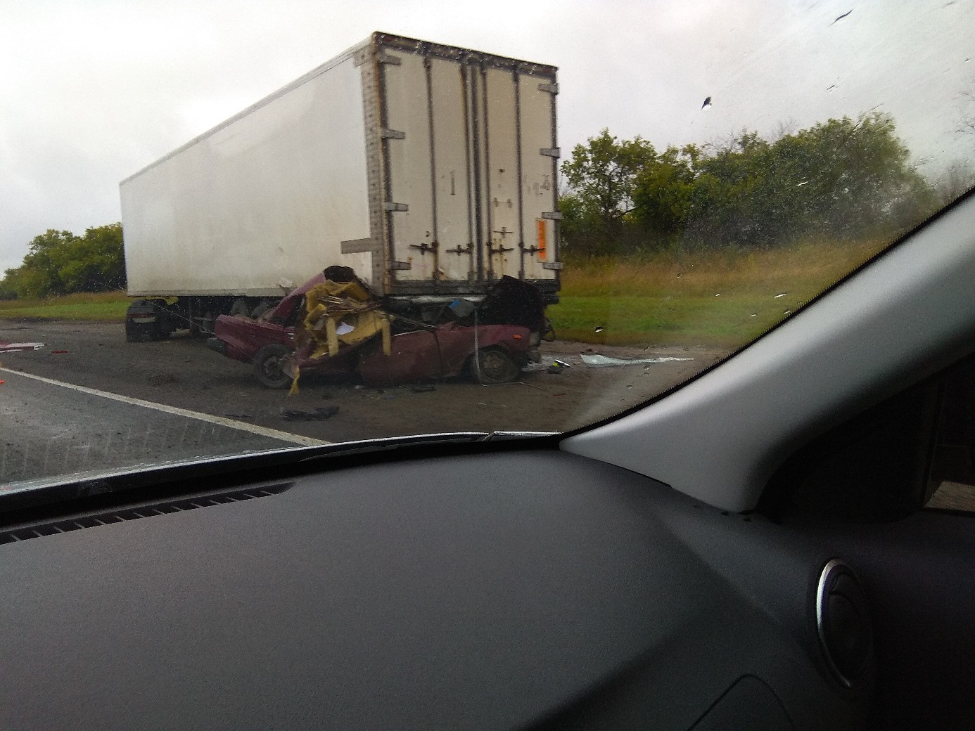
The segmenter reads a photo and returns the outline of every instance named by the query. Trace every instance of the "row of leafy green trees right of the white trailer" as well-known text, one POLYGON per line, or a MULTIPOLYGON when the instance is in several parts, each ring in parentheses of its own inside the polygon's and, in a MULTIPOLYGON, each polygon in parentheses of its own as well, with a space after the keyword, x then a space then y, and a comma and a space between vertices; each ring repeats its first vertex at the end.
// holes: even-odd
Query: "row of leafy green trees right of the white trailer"
MULTIPOLYGON (((668 147, 603 130, 563 164, 566 251, 677 242, 771 247, 892 236, 937 208, 884 114, 830 119, 774 141, 743 130, 721 146, 668 147)), ((946 181, 957 186, 957 180, 946 181)), ((947 188, 946 188, 947 189, 947 188)))

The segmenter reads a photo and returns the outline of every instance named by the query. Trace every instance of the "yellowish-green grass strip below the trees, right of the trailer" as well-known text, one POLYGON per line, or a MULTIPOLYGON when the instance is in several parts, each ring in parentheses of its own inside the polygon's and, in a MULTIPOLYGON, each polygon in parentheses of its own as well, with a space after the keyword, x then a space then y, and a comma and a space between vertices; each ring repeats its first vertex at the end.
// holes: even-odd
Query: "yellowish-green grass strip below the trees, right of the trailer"
POLYGON ((569 340, 735 347, 795 312, 883 244, 568 259, 561 302, 548 314, 558 336, 569 340))

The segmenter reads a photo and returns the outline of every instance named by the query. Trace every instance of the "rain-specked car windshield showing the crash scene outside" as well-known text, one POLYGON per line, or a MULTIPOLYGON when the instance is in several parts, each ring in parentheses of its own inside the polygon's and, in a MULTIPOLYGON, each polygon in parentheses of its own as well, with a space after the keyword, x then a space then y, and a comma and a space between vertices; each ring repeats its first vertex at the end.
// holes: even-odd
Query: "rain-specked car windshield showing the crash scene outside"
POLYGON ((10 7, 0 489, 643 404, 971 187, 972 27, 960 1, 10 7))

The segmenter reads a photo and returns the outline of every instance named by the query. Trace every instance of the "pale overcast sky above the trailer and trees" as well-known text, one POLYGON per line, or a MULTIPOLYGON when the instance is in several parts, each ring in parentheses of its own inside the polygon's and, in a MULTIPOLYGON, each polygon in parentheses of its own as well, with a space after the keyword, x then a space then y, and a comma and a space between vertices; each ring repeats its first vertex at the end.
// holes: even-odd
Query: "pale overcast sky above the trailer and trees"
POLYGON ((933 176, 975 160, 972 28, 975 0, 0 0, 0 270, 373 30, 559 66, 566 156, 604 127, 664 147, 878 109, 933 176))

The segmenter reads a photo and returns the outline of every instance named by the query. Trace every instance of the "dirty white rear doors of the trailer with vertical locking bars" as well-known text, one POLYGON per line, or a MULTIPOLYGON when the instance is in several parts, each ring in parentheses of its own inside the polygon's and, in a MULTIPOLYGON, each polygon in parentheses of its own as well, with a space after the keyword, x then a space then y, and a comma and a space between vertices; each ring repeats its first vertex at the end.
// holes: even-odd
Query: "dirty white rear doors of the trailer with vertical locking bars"
POLYGON ((558 289, 555 69, 405 41, 376 51, 392 290, 558 289))

